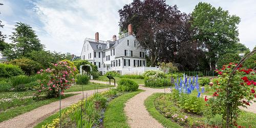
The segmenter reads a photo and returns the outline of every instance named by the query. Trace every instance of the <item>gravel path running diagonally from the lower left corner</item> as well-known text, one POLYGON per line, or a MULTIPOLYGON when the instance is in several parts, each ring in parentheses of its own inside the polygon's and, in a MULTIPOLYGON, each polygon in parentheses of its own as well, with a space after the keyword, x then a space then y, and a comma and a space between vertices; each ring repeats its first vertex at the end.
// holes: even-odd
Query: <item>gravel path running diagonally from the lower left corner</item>
MULTIPOLYGON (((106 91, 108 89, 99 89, 98 92, 106 91)), ((82 98, 82 91, 80 92, 71 92, 78 93, 78 95, 71 96, 61 100, 61 109, 70 106, 73 103, 78 102, 82 98)), ((84 95, 88 93, 88 96, 94 93, 94 90, 83 91, 84 95)), ((34 109, 25 114, 16 116, 12 119, 3 121, 0 123, 0 127, 33 127, 40 121, 49 117, 50 115, 59 111, 59 101, 52 102, 47 105, 40 106, 37 109, 34 109)))

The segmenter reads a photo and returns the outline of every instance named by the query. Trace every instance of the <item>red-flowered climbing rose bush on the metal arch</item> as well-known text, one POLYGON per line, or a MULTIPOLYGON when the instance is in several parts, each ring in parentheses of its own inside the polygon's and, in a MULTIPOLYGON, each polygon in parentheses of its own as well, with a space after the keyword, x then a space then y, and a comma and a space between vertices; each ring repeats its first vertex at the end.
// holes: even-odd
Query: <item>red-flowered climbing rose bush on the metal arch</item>
POLYGON ((254 90, 254 87, 256 86, 255 70, 244 69, 242 66, 234 72, 233 77, 230 79, 230 88, 228 88, 229 95, 227 97, 227 82, 236 65, 234 63, 229 63, 229 65, 224 65, 222 69, 216 70, 219 74, 219 81, 213 86, 216 92, 214 92, 209 99, 205 97, 205 101, 207 102, 206 105, 211 109, 210 115, 212 115, 212 117, 216 114, 222 115, 223 121, 225 121, 227 117, 226 104, 230 103, 230 126, 238 126, 236 120, 241 111, 239 106, 246 108, 253 102, 253 98, 256 98, 254 90))

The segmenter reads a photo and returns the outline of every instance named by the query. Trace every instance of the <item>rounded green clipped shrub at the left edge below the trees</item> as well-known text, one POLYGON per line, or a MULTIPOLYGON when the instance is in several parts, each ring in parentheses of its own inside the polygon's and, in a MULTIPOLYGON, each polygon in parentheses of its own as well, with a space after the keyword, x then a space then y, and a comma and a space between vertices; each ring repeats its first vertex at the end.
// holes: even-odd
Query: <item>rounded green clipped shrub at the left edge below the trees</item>
POLYGON ((0 63, 0 78, 9 78, 12 76, 23 75, 24 72, 18 66, 0 63))

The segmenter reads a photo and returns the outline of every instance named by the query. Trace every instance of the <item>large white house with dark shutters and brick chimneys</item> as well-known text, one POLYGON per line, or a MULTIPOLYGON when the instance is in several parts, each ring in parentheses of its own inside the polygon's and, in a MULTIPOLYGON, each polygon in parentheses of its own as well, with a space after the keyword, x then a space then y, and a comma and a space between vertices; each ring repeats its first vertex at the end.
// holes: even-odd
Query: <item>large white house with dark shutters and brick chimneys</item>
POLYGON ((107 71, 117 71, 121 74, 141 74, 146 66, 145 50, 138 45, 131 24, 128 26, 128 33, 119 37, 113 35, 113 38, 108 41, 99 40, 98 32, 95 33, 95 39, 86 38, 82 47, 81 59, 96 65, 102 74, 107 71), (138 71, 132 72, 132 70, 138 71))

